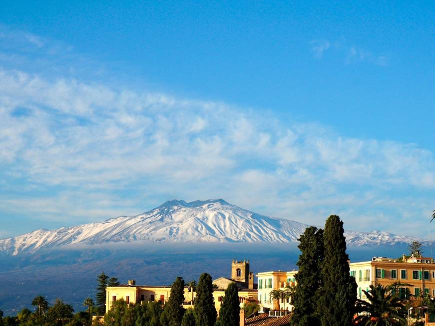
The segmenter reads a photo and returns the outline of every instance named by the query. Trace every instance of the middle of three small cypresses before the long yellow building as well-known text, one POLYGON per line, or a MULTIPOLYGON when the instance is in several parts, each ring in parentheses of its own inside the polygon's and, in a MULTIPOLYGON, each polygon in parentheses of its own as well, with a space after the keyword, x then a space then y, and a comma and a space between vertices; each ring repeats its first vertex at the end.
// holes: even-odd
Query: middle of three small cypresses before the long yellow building
POLYGON ((207 273, 199 278, 194 307, 196 326, 214 326, 217 312, 214 306, 211 276, 207 273))

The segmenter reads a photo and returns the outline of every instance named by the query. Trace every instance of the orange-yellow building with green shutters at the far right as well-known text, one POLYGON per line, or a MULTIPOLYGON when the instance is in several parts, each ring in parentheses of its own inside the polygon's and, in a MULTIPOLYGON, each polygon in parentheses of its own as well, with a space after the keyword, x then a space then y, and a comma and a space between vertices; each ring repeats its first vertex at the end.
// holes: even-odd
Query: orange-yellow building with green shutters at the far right
POLYGON ((412 255, 401 259, 373 257, 369 262, 351 263, 350 273, 355 277, 359 299, 366 299, 363 290, 369 286, 391 285, 395 282, 408 283, 411 286, 400 287, 400 297, 406 297, 406 288, 413 295, 430 294, 435 296, 435 264, 432 258, 412 255))

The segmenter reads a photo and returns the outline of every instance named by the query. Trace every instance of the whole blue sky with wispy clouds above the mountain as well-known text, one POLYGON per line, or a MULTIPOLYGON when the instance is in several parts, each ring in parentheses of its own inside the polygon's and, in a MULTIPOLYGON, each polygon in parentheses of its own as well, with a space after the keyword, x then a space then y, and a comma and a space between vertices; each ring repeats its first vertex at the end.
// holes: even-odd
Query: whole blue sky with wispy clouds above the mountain
POLYGON ((224 198, 427 237, 435 4, 9 1, 0 237, 224 198))

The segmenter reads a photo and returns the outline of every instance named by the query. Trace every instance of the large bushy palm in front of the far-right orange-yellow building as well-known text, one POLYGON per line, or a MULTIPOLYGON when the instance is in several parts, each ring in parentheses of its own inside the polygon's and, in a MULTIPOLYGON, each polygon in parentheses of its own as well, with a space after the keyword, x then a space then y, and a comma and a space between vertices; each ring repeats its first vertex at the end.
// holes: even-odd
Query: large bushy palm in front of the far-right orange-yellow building
POLYGON ((393 326, 406 324, 405 306, 397 296, 382 285, 376 288, 370 285, 370 290, 363 290, 367 301, 357 300, 359 313, 354 322, 364 326, 393 326))

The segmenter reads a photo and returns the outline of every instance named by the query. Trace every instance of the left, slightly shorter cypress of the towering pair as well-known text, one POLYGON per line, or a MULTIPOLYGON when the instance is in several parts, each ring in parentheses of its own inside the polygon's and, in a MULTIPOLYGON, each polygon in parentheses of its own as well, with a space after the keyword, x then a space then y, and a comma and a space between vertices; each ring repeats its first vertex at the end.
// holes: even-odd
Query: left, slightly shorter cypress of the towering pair
POLYGON ((294 307, 292 325, 318 326, 319 316, 316 306, 322 278, 319 266, 323 262, 323 230, 308 227, 301 235, 298 248, 301 251, 298 274, 295 275, 296 286, 291 303, 294 307))

